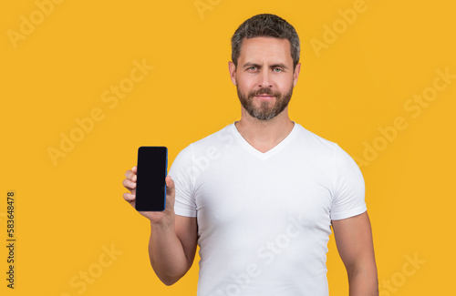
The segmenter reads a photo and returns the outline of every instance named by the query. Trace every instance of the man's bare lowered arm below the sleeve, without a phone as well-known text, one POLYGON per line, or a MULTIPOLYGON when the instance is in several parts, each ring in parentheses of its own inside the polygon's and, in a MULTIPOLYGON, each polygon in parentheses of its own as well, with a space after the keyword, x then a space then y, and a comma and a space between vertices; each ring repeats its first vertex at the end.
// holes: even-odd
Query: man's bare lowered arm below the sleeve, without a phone
POLYGON ((347 269, 350 296, 378 296, 377 266, 368 212, 333 220, 332 224, 337 250, 347 269))

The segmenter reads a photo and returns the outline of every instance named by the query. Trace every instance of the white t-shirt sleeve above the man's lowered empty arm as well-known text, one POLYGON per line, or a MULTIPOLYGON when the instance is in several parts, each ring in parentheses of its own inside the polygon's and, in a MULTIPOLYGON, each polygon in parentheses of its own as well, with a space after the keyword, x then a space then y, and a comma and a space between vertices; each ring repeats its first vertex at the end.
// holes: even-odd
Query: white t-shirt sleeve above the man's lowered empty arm
POLYGON ((358 164, 336 144, 331 219, 346 219, 367 210, 364 178, 358 164))

